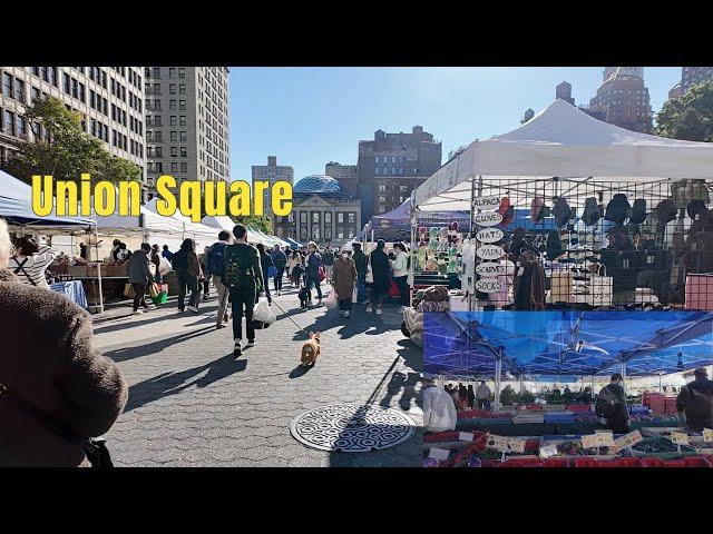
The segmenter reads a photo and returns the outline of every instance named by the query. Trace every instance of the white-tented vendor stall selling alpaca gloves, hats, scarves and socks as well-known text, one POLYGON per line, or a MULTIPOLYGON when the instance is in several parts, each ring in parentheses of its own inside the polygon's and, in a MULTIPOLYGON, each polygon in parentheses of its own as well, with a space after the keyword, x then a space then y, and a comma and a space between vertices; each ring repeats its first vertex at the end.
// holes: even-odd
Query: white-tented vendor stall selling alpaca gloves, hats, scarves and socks
POLYGON ((713 144, 625 130, 556 100, 471 144, 412 200, 417 215, 470 210, 459 267, 470 309, 710 310, 712 168, 713 144))

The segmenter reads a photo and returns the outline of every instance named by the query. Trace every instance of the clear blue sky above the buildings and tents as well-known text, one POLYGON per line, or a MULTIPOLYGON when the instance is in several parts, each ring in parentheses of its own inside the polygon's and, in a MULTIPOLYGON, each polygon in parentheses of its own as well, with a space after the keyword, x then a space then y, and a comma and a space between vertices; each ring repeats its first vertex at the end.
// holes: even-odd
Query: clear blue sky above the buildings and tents
MULTIPOLYGON (((360 139, 374 131, 423 126, 449 150, 519 126, 538 112, 563 80, 575 103, 588 103, 604 67, 231 68, 232 179, 252 165, 294 167, 295 180, 323 174, 324 164, 355 164, 360 139)), ((681 80, 681 67, 646 67, 654 112, 681 80)))

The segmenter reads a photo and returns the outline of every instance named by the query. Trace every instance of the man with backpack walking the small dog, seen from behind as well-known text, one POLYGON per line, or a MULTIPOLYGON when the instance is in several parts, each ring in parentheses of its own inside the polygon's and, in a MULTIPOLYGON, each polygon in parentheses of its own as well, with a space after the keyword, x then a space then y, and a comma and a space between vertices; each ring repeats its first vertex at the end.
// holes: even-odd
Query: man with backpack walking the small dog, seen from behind
POLYGON ((246 243, 245 225, 235 225, 233 235, 235 244, 225 247, 225 273, 222 276, 222 283, 228 288, 233 303, 233 338, 235 340, 233 353, 238 357, 242 354, 243 308, 247 329, 245 348, 255 346, 253 310, 257 296, 263 295, 263 269, 257 249, 246 243))

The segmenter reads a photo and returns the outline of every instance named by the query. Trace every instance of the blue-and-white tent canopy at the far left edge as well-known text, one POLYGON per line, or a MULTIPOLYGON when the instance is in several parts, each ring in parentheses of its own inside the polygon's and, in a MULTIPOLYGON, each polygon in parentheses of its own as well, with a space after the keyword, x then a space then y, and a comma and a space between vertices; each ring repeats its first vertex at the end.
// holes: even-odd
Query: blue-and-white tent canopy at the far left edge
POLYGON ((53 212, 39 217, 32 211, 32 188, 0 170, 0 217, 10 225, 32 227, 89 227, 94 225, 86 217, 59 217, 53 212))

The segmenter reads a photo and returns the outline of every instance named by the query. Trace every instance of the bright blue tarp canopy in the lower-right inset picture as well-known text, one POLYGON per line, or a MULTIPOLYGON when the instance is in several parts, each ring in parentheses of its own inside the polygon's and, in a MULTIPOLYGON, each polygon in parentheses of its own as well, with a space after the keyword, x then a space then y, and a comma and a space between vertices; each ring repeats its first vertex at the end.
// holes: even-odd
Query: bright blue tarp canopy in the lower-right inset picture
POLYGON ((424 367, 431 373, 607 375, 677 373, 713 364, 706 312, 472 312, 427 314, 424 367))

